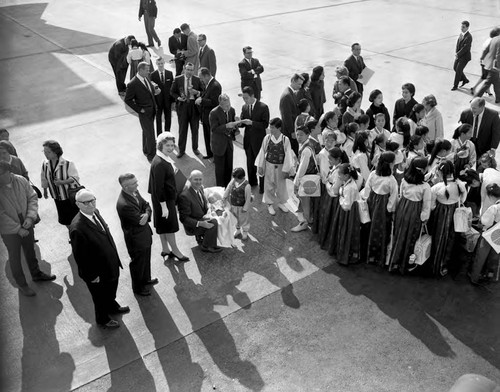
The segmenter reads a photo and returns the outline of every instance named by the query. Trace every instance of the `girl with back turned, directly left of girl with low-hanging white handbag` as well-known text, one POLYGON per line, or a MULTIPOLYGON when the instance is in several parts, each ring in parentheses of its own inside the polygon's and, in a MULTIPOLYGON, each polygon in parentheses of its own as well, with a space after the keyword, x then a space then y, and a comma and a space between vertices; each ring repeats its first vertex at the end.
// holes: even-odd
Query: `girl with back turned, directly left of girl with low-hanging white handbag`
POLYGON ((398 183, 392 175, 396 155, 387 151, 380 155, 377 169, 370 173, 361 192, 368 199, 371 225, 368 235, 368 263, 384 266, 391 237, 392 213, 396 210, 398 183))

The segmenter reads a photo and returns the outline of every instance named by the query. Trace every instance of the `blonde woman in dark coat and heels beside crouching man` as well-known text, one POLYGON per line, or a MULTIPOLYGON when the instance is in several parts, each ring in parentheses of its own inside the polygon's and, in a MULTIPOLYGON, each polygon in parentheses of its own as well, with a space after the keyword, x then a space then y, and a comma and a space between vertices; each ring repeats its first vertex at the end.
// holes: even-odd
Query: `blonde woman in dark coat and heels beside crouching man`
POLYGON ((175 233, 179 231, 177 219, 177 186, 174 161, 169 155, 174 151, 175 137, 170 132, 163 132, 156 141, 156 156, 151 161, 149 172, 148 192, 151 194, 153 204, 153 223, 156 232, 160 235, 162 252, 161 256, 175 258, 178 261, 188 261, 175 240, 175 233), (170 247, 172 251, 170 251, 170 247))

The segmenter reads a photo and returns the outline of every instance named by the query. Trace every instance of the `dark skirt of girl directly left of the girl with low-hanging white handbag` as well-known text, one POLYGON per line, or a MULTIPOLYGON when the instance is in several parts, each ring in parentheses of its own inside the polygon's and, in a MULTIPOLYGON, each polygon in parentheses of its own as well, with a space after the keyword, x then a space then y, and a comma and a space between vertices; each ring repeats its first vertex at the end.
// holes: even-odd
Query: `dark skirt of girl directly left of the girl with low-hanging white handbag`
POLYGON ((373 191, 367 201, 371 218, 367 260, 380 266, 385 265, 387 245, 391 238, 392 214, 387 212, 388 202, 389 194, 379 195, 373 191))

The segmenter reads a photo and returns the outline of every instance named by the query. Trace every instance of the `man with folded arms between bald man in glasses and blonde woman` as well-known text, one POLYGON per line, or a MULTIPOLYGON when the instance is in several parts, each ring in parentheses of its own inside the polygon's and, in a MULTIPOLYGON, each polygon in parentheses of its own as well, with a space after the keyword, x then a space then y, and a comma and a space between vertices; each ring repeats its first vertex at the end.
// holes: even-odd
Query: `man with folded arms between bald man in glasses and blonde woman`
POLYGON ((151 279, 153 232, 148 223, 151 221, 151 207, 137 190, 138 182, 133 174, 122 174, 118 181, 122 191, 116 203, 116 211, 130 256, 132 290, 138 295, 151 295, 148 285, 158 283, 158 279, 151 279))

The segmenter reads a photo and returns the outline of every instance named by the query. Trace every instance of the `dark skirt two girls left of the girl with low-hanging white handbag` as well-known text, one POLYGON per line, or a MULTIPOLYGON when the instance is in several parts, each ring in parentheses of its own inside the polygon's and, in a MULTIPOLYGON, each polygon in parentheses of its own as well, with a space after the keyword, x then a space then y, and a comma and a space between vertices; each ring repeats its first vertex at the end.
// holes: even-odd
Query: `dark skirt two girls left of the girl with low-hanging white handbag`
POLYGON ((352 203, 351 210, 338 209, 337 263, 353 264, 359 261, 360 223, 358 203, 352 203))

